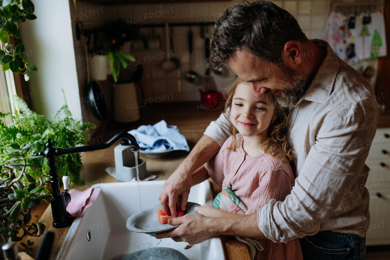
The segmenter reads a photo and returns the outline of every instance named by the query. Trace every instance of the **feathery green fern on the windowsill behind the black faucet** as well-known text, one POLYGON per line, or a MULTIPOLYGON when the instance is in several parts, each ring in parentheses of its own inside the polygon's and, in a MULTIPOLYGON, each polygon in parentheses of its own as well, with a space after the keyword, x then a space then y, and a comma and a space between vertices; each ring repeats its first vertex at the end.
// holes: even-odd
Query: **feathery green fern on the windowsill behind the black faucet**
MULTIPOLYGON (((34 144, 32 153, 44 151, 46 149, 46 140, 50 139, 54 147, 66 148, 83 145, 89 141, 89 135, 85 132, 96 126, 91 123, 83 123, 82 120, 75 120, 68 109, 65 96, 64 105, 54 115, 53 120, 44 119, 43 116, 28 109, 27 104, 14 97, 19 110, 15 110, 14 116, 11 114, 0 113, 0 161, 7 158, 6 149, 12 148, 9 143, 21 145, 23 143, 34 144), (11 117, 12 123, 5 125, 1 118, 11 117)), ((62 177, 65 172, 70 177, 69 186, 74 183, 82 184, 80 171, 82 162, 79 153, 62 155, 57 158, 58 175, 62 177)), ((31 158, 32 163, 38 167, 27 169, 26 173, 37 179, 48 172, 47 160, 37 160, 31 158)))

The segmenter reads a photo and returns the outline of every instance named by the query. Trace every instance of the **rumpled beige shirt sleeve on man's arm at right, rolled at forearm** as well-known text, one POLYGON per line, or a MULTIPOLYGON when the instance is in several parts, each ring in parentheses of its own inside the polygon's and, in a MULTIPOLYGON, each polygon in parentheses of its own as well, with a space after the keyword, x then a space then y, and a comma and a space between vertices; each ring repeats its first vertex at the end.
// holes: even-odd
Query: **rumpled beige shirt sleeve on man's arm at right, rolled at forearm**
MULTIPOLYGON (((368 170, 362 172, 361 169, 367 167, 365 158, 375 134, 375 118, 378 118, 377 111, 367 109, 339 117, 319 130, 291 194, 284 201, 271 199, 257 212, 259 228, 268 239, 286 243, 315 235, 321 230, 332 229, 321 226, 330 215, 337 216, 351 208, 353 211, 353 205, 360 205, 362 201, 367 201, 368 206, 369 194, 364 187, 358 188, 358 196, 353 198, 343 196, 343 191, 361 187, 367 180, 368 170)), ((363 223, 369 218, 355 215, 344 226, 363 223)))

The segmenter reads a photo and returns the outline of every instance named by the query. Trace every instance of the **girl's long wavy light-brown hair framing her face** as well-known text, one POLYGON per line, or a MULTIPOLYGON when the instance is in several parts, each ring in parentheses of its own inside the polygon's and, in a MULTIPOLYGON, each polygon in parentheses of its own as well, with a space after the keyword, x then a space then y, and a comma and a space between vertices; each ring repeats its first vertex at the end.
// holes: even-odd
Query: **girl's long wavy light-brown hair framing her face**
MULTIPOLYGON (((242 80, 239 77, 236 77, 234 79, 234 82, 229 86, 227 89, 229 93, 229 98, 227 99, 225 103, 225 109, 224 112, 226 112, 229 109, 229 114, 227 115, 227 119, 230 121, 230 111, 232 109, 232 103, 233 103, 233 96, 236 92, 236 88, 240 83, 248 84, 248 82, 242 80)), ((286 157, 289 162, 291 162, 294 159, 294 153, 293 149, 290 146, 289 143, 289 133, 287 130, 287 117, 288 117, 288 110, 286 108, 280 107, 275 102, 275 96, 271 93, 271 91, 266 91, 263 94, 267 100, 267 102, 274 105, 274 115, 275 113, 278 113, 277 119, 275 121, 271 121, 271 125, 269 125, 268 128, 268 135, 264 139, 261 149, 264 151, 264 153, 269 153, 275 158, 284 158, 286 157)), ((229 149, 236 151, 237 148, 237 139, 236 134, 238 133, 238 130, 233 126, 232 122, 230 121, 229 126, 230 134, 233 135, 232 144, 229 149)))

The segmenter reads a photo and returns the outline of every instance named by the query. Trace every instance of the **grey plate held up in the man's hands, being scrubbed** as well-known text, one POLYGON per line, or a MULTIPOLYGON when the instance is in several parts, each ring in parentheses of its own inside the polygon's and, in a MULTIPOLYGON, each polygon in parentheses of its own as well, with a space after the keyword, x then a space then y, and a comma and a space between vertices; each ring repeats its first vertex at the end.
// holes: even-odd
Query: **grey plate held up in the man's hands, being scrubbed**
MULTIPOLYGON (((200 205, 198 203, 188 202, 186 210, 184 210, 184 215, 196 213, 194 208, 199 206, 200 205)), ((144 211, 137 212, 136 214, 132 215, 127 219, 126 228, 134 232, 145 233, 155 237, 156 234, 172 230, 180 226, 161 224, 160 221, 158 221, 157 217, 158 209, 162 209, 160 204, 149 207, 144 211)))

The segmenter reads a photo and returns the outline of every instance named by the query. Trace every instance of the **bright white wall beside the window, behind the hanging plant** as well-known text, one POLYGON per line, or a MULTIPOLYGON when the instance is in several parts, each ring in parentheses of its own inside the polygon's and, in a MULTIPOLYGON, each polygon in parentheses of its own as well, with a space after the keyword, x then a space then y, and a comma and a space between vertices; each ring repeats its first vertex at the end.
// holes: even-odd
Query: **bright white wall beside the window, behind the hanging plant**
POLYGON ((37 19, 20 27, 25 58, 38 67, 28 81, 33 108, 53 118, 64 103, 62 88, 73 118, 81 119, 69 1, 38 0, 34 5, 37 19))

